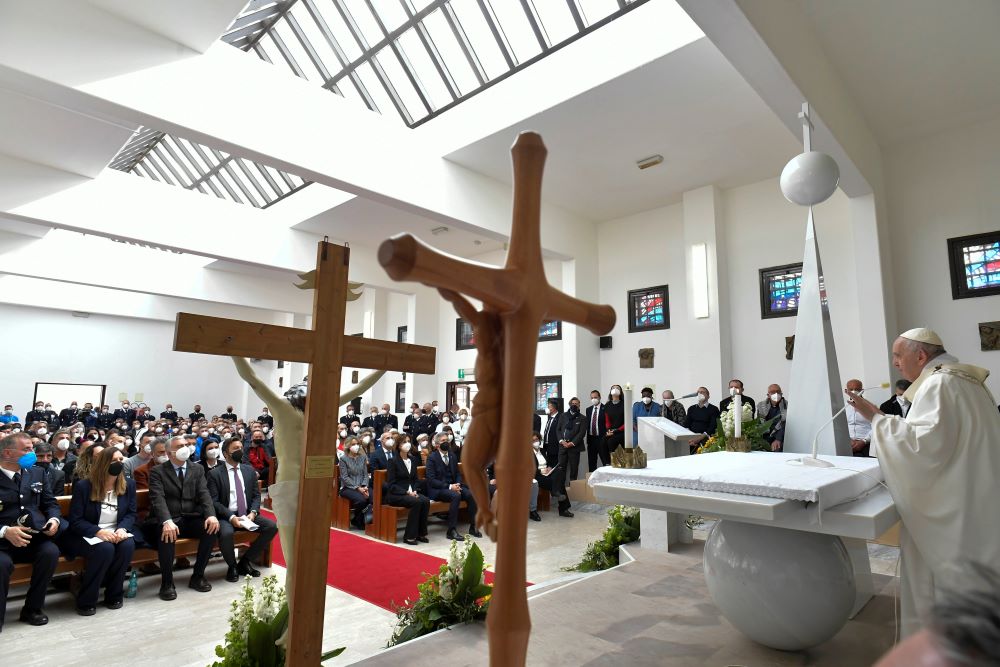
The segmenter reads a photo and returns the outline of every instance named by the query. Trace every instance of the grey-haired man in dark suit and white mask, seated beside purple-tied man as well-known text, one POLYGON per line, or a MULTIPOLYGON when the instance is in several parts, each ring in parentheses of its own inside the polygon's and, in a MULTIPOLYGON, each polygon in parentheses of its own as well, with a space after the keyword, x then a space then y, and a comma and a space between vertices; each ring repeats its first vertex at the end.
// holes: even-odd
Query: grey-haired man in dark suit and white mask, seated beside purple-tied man
POLYGON ((188 461, 191 448, 184 436, 174 436, 167 443, 167 462, 149 473, 149 517, 146 520, 146 541, 156 544, 159 552, 160 599, 177 599, 171 565, 174 562, 178 537, 199 538, 198 558, 194 563, 189 588, 200 593, 212 590, 205 579, 205 566, 219 532, 215 504, 208 493, 205 470, 188 461))

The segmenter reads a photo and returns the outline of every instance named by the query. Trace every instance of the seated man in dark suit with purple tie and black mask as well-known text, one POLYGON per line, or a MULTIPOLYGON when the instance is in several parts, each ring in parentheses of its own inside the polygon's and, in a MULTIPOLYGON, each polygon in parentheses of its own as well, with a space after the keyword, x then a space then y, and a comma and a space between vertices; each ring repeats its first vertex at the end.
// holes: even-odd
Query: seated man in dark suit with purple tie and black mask
POLYGON ((253 562, 271 546, 278 534, 278 525, 260 516, 260 487, 257 471, 243 463, 243 443, 233 438, 222 443, 223 465, 215 466, 208 475, 208 492, 215 503, 215 516, 219 519, 219 549, 229 566, 226 581, 239 581, 240 576, 259 577, 260 571, 253 562), (242 523, 250 521, 259 526, 257 539, 247 549, 239 562, 233 547, 233 534, 247 530, 242 523))

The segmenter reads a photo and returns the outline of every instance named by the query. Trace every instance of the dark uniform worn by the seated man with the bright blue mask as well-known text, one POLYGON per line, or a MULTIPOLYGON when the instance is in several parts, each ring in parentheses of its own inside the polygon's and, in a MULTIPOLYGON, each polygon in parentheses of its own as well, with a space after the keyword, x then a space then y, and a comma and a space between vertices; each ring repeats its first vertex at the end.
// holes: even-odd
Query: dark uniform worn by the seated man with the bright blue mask
POLYGON ((41 612, 45 606, 45 590, 59 562, 59 547, 55 540, 66 530, 68 523, 62 518, 59 503, 45 483, 42 468, 21 468, 14 477, 20 486, 7 476, 7 470, 0 470, 0 530, 17 525, 18 519, 27 517, 24 524, 39 532, 31 536, 31 542, 24 547, 15 547, 6 539, 0 539, 0 627, 3 611, 7 608, 7 592, 10 589, 10 575, 14 563, 31 563, 31 584, 24 599, 25 612, 41 612), (42 534, 41 530, 49 519, 59 520, 59 530, 53 537, 42 534))

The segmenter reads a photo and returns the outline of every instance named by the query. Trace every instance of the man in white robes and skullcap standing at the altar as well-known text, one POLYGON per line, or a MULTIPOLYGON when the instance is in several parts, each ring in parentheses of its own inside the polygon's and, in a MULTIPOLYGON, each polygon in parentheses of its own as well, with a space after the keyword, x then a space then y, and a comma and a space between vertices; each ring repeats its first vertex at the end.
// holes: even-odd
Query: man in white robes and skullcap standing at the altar
POLYGON ((893 366, 913 382, 906 418, 882 414, 856 394, 872 423, 872 453, 903 519, 904 635, 920 629, 935 579, 963 560, 1000 565, 1000 413, 983 384, 989 371, 958 363, 930 329, 910 329, 892 345, 893 366))

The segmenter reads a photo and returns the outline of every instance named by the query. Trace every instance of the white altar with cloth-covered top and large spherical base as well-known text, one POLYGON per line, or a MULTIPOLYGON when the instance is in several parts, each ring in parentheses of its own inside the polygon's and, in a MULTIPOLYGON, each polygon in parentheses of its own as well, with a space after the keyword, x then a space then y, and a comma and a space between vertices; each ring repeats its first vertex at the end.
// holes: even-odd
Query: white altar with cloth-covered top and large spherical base
MULTIPOLYGON (((878 483, 876 459, 822 457, 836 468, 786 464, 794 458, 661 458, 640 470, 600 468, 589 483, 601 502, 720 519, 705 546, 713 599, 752 639, 795 650, 832 637, 871 598, 866 540, 899 515, 878 483)), ((645 523, 642 532, 645 540, 645 523)))

